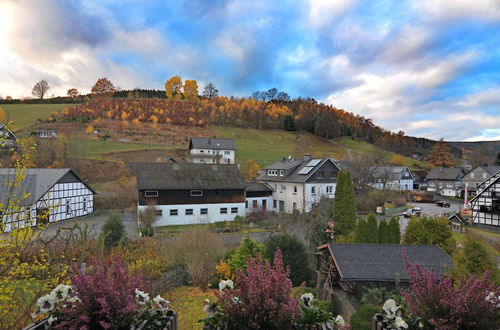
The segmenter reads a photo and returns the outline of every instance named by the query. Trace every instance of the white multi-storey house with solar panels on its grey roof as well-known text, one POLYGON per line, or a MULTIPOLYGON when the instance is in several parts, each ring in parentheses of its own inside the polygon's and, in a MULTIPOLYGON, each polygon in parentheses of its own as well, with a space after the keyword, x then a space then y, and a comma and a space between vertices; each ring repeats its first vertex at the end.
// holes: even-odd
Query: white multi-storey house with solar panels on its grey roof
POLYGON ((333 198, 339 166, 333 159, 281 158, 266 167, 257 180, 273 188, 272 210, 309 212, 322 197, 333 198))

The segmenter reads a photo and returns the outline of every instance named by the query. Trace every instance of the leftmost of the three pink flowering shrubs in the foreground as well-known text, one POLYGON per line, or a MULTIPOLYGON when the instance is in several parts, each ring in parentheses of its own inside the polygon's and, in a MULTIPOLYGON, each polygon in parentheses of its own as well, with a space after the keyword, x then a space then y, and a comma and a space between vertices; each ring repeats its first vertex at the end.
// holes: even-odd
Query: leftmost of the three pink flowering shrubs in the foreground
POLYGON ((84 274, 74 269, 72 284, 78 300, 58 315, 55 329, 129 329, 137 314, 136 288, 142 280, 131 275, 116 257, 84 274))

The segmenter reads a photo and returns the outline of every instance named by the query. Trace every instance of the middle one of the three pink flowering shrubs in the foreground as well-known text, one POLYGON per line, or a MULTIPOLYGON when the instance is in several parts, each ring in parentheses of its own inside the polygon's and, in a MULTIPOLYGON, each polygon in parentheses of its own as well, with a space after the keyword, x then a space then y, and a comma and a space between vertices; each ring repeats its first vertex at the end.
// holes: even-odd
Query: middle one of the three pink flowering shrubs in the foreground
POLYGON ((301 316, 299 299, 291 296, 289 270, 283 267, 281 251, 274 263, 260 255, 249 259, 246 274, 238 270, 235 290, 219 294, 218 305, 231 329, 291 329, 301 316))

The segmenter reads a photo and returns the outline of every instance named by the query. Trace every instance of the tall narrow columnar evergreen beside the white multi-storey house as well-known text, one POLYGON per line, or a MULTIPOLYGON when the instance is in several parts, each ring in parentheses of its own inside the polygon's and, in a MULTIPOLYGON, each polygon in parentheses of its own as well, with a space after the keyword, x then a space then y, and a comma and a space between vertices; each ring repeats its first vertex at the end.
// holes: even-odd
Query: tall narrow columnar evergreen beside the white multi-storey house
POLYGON ((356 226, 356 202, 349 172, 340 171, 333 199, 333 220, 337 235, 349 235, 356 226))

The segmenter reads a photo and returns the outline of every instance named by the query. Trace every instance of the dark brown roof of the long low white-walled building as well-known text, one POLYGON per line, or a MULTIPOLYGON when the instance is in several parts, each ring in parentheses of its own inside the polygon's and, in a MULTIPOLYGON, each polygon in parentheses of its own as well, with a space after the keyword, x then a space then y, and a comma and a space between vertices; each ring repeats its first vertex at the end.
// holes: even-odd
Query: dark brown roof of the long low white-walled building
POLYGON ((245 189, 237 165, 130 163, 139 190, 245 189))

